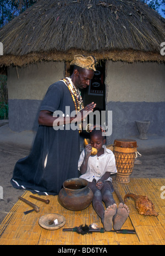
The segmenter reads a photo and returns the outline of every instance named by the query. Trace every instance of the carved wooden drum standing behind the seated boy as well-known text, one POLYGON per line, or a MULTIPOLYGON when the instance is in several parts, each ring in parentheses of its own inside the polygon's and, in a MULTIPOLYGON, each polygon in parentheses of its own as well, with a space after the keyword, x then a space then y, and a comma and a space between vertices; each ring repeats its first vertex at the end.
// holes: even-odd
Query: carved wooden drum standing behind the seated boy
POLYGON ((116 139, 114 140, 113 153, 116 159, 116 180, 121 183, 129 183, 130 174, 133 172, 135 163, 135 152, 137 151, 136 140, 116 139))

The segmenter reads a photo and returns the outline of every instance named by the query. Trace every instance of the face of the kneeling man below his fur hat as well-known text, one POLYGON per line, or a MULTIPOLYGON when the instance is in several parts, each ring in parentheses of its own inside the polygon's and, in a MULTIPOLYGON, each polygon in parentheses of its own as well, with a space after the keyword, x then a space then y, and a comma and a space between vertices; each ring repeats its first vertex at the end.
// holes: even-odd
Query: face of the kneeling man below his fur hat
POLYGON ((75 87, 78 89, 84 89, 90 85, 90 80, 94 77, 94 70, 84 69, 83 71, 77 71, 75 87))

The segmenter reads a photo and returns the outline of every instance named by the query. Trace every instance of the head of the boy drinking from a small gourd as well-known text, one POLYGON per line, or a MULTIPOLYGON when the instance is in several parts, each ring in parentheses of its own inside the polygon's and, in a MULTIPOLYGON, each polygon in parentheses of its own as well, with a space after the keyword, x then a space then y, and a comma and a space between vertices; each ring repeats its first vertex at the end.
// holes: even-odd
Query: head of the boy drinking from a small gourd
POLYGON ((102 135, 102 130, 92 130, 90 133, 90 144, 93 148, 96 148, 97 151, 102 149, 102 146, 106 143, 106 138, 102 135))

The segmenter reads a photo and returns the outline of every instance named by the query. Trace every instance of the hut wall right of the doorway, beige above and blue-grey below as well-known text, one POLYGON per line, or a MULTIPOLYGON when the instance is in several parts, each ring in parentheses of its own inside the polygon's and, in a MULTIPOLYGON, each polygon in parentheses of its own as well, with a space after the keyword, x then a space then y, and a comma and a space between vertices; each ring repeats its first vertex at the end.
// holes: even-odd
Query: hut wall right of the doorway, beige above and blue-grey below
POLYGON ((106 63, 106 109, 112 111, 112 135, 139 135, 137 120, 150 120, 149 134, 165 135, 165 65, 157 62, 106 63))

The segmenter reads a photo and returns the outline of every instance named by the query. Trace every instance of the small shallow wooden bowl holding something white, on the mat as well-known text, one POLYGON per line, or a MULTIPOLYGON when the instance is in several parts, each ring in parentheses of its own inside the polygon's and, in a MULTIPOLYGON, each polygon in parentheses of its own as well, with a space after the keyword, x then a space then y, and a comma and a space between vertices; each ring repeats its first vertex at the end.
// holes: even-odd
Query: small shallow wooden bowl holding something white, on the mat
POLYGON ((55 229, 61 228, 64 226, 65 222, 66 222, 65 217, 57 213, 53 213, 53 214, 50 213, 50 214, 43 215, 38 220, 38 223, 42 228, 49 229, 49 230, 55 230, 55 229), (58 224, 53 223, 53 221, 56 219, 58 220, 58 224), (53 224, 50 224, 51 222, 53 224))

